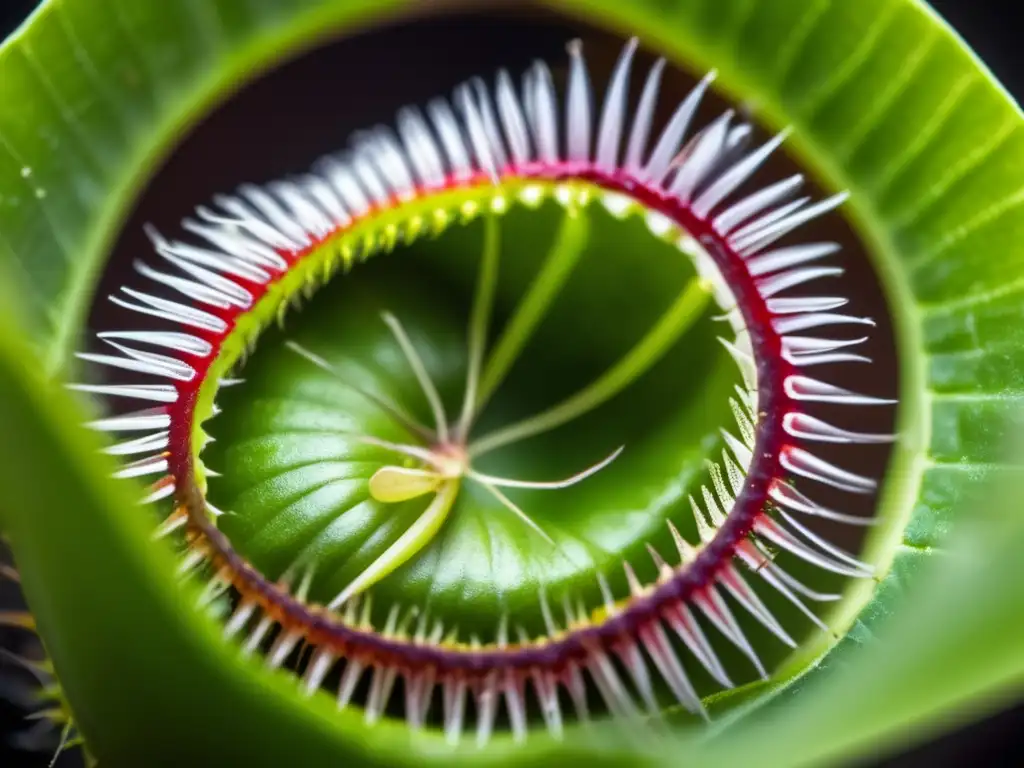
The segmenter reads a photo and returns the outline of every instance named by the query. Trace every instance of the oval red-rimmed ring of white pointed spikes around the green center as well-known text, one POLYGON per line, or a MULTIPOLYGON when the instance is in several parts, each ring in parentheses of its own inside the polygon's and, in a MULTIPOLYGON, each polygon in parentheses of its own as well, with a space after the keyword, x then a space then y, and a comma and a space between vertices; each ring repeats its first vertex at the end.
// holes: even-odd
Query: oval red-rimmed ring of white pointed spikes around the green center
MULTIPOLYGON (((360 134, 350 152, 322 161, 311 175, 264 187, 243 186, 238 196, 217 198, 217 209, 198 208, 197 218, 185 221, 184 227, 205 245, 171 242, 153 233, 158 255, 173 271, 138 265, 143 276, 181 294, 185 301, 128 287, 112 297, 127 309, 169 322, 173 330, 99 334, 117 353, 81 355, 161 380, 78 388, 152 404, 91 426, 140 434, 109 452, 141 457, 132 459, 119 474, 158 477, 148 501, 177 497, 180 506, 160 534, 187 525, 193 548, 182 570, 211 561, 215 575, 209 594, 228 587, 238 591, 240 601, 225 633, 243 634, 244 646, 251 651, 280 625, 268 664, 281 666, 300 644, 313 648, 304 666, 304 689, 315 691, 333 669, 340 668, 336 694, 341 707, 350 702, 360 677, 370 675, 368 721, 381 717, 401 678, 409 723, 419 727, 426 722, 434 692, 439 691, 442 727, 452 741, 469 725, 467 697, 475 702, 479 743, 489 737, 502 700, 512 733, 523 737, 529 689, 548 729, 559 734, 565 718, 563 694, 577 717, 589 716, 586 681, 598 689, 611 713, 656 711, 650 665, 685 708, 702 715, 683 657, 696 659, 722 686, 732 683, 698 614, 739 648, 762 676, 767 672, 726 595, 781 642, 795 645, 749 586, 740 564, 822 629, 807 601, 838 596, 798 582, 773 561, 768 547, 844 575, 871 572, 811 531, 801 518, 869 521, 824 508, 793 483, 794 478, 804 478, 852 494, 871 493, 876 485, 871 478, 826 462, 813 446, 891 439, 834 426, 804 408, 809 402, 851 407, 891 402, 805 373, 814 366, 866 360, 849 351, 864 338, 833 338, 818 335, 818 330, 836 325, 869 327, 871 322, 837 311, 847 304, 843 297, 785 295, 797 286, 842 273, 841 267, 819 265, 839 250, 834 243, 776 243, 834 209, 845 195, 817 203, 797 198, 803 179, 796 175, 737 198, 741 185, 784 135, 748 150, 752 128, 736 121, 730 111, 687 138, 713 76, 692 90, 651 139, 665 61, 653 66, 639 103, 631 111, 627 89, 635 50, 632 41, 623 51, 599 116, 593 113, 587 68, 574 45, 564 120, 559 118, 559 98, 545 65, 537 63, 526 74, 519 92, 502 72, 493 89, 476 79, 459 87, 452 103, 435 99, 427 108, 428 118, 414 108, 401 110, 397 134, 384 127, 360 134), (547 622, 542 638, 517 633, 510 639, 503 620, 496 629, 497 642, 483 645, 474 638, 460 639, 454 631, 449 634, 447 627, 429 623, 425 613, 401 614, 397 608, 382 627, 374 627, 367 600, 360 602, 358 597, 337 610, 312 605, 301 588, 270 584, 231 549, 210 521, 217 510, 194 483, 202 446, 191 442, 196 417, 191 409, 201 387, 210 384, 211 361, 238 321, 259 306, 270 286, 334 242, 340 244, 342 261, 349 263, 359 248, 365 256, 412 240, 430 226, 442 228, 447 214, 426 223, 413 217, 360 241, 358 247, 343 241, 345 232, 381 212, 452 189, 477 190, 477 199, 458 212, 467 217, 485 208, 501 212, 511 198, 536 205, 548 195, 572 206, 586 205, 593 196, 614 215, 643 215, 651 231, 676 242, 713 285, 733 331, 723 344, 743 374, 744 385, 731 400, 736 429, 723 433, 726 450, 721 462, 712 467, 710 484, 690 499, 700 542, 686 542, 670 522, 678 561, 670 564, 651 550, 658 569, 654 584, 641 584, 626 563, 630 592, 615 596, 598 573, 604 604, 588 609, 567 602, 561 624, 541 595, 547 622), (147 351, 154 348, 159 351, 147 351)), ((330 271, 330 260, 327 266, 330 271)))

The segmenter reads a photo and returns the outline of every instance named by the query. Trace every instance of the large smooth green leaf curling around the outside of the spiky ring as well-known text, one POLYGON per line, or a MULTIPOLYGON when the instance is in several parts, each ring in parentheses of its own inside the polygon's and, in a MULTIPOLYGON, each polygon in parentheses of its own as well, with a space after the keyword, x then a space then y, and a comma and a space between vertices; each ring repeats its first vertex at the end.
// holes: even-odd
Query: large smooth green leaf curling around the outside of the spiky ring
MULTIPOLYGON (((1019 628, 994 630, 1021 599, 1012 510, 978 538, 963 535, 965 547, 992 553, 984 567, 919 567, 959 538, 979 480, 1013 471, 1002 443, 1024 397, 1019 109, 912 0, 549 2, 637 33, 694 73, 717 68, 722 88, 763 122, 793 125, 801 163, 851 190, 849 215, 896 328, 900 441, 867 552, 885 579, 846 600, 837 622, 853 630, 824 663, 812 665, 827 642, 807 644, 779 679, 810 672, 736 710, 700 749, 722 765, 854 754, 1019 680, 1008 655, 1019 628), (950 626, 949 615, 964 621, 950 626), (861 652, 874 634, 888 637, 885 652, 861 652)), ((109 467, 74 426, 78 411, 11 338, 30 339, 47 374, 62 371, 110 244, 174 137, 283 57, 400 5, 54 0, 0 49, 0 284, 22 317, 22 331, 0 328, 0 514, 72 705, 113 764, 211 751, 274 764, 299 745, 310 764, 343 753, 421 760, 423 744, 402 728, 366 730, 234 657, 183 604, 124 488, 100 479, 109 467)), ((690 732, 687 749, 703 738, 690 732)), ((599 746, 587 759, 614 762, 599 746)), ((486 755, 511 759, 507 749, 486 755)), ((558 764, 585 748, 541 736, 527 749, 558 764)))

